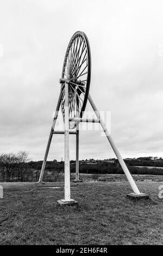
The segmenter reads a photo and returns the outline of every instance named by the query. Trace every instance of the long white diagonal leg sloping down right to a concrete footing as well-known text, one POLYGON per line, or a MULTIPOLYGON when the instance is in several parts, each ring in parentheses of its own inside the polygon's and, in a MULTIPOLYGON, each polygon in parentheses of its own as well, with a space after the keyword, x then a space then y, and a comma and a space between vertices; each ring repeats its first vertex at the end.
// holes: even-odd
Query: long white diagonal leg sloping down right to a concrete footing
POLYGON ((108 141, 110 142, 110 145, 111 145, 112 149, 114 150, 114 153, 115 153, 116 156, 117 156, 118 161, 119 161, 120 164, 121 164, 121 167, 122 167, 124 173, 126 174, 126 177, 127 177, 128 181, 129 181, 129 184, 131 185, 131 188, 133 188, 134 193, 136 193, 136 194, 141 194, 140 191, 139 191, 139 189, 137 188, 137 186, 136 186, 136 184, 135 184, 135 181, 133 180, 133 177, 131 176, 131 174, 130 174, 130 172, 129 172, 127 166, 126 166, 126 164, 124 163, 124 161, 123 161, 123 159, 122 159, 122 156, 120 155, 120 152, 119 152, 118 149, 116 148, 116 145, 115 145, 114 141, 112 141, 112 138, 111 138, 111 136, 110 136, 110 133, 109 133, 108 129, 106 128, 106 126, 105 126, 105 124, 104 124, 104 121, 102 120, 102 118, 101 118, 101 116, 100 116, 100 114, 99 114, 99 111, 98 111, 98 109, 97 109, 95 103, 93 102, 93 100, 92 100, 90 94, 89 94, 89 98, 88 98, 88 99, 89 99, 89 102, 90 102, 90 104, 91 104, 93 110, 95 111, 96 117, 97 117, 98 119, 100 119, 100 124, 101 124, 101 126, 102 126, 102 128, 103 128, 103 130, 104 130, 104 132, 105 132, 105 135, 106 135, 108 141))

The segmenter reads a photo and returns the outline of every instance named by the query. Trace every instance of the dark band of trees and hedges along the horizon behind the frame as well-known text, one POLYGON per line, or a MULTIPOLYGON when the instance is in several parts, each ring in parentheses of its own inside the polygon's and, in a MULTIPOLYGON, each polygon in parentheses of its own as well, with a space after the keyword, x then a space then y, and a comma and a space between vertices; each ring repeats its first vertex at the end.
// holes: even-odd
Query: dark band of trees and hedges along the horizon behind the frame
MULTIPOLYGON (((109 159, 111 160, 111 159, 109 159)), ((114 159, 115 160, 115 159, 114 159)), ((156 159, 155 159, 156 160, 156 159)), ((153 174, 163 175, 163 169, 145 166, 163 166, 163 160, 152 160, 151 157, 140 157, 139 159, 124 160, 131 174, 153 174), (136 168, 135 166, 144 166, 136 168)), ((86 160, 85 160, 86 161, 86 160)), ((84 160, 79 161, 79 173, 87 174, 123 174, 123 170, 117 160, 96 160, 96 164, 86 164, 84 160), (83 162, 83 163, 82 163, 83 162)), ((92 160, 93 162, 93 160, 92 160)), ((76 172, 76 162, 70 161, 70 172, 76 172)), ((0 155, 0 181, 32 181, 39 180, 42 161, 31 161, 26 151, 17 154, 8 153, 0 155)), ((44 181, 60 181, 64 179, 64 162, 57 160, 47 161, 44 181)))

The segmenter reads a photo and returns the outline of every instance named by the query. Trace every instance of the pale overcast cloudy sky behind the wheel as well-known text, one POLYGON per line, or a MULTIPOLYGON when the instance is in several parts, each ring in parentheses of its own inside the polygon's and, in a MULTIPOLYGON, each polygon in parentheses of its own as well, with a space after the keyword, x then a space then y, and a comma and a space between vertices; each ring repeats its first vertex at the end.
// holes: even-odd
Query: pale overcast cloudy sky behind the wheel
MULTIPOLYGON (((99 111, 111 111, 111 135, 122 156, 163 157, 162 9, 156 0, 1 0, 0 153, 26 150, 43 159, 67 44, 84 31, 90 94, 99 111)), ((56 135, 48 159, 61 157, 64 136, 56 135)), ((80 159, 92 157, 114 153, 100 131, 81 131, 80 159)))

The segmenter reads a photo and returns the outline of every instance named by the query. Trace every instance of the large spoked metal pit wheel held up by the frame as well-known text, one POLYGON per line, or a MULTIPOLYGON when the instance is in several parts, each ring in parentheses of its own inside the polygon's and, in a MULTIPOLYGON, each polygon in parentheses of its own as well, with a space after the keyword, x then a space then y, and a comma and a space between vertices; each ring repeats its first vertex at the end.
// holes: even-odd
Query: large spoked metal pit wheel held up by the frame
MULTIPOLYGON (((65 55, 62 77, 60 80, 62 97, 61 111, 65 120, 65 84, 68 83, 69 117, 82 118, 91 80, 91 51, 89 41, 84 32, 76 32, 72 36, 65 55)), ((76 121, 70 121, 70 129, 77 127, 76 121)))

